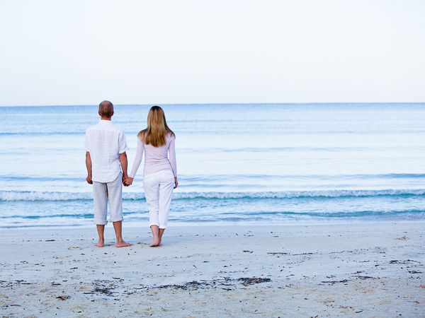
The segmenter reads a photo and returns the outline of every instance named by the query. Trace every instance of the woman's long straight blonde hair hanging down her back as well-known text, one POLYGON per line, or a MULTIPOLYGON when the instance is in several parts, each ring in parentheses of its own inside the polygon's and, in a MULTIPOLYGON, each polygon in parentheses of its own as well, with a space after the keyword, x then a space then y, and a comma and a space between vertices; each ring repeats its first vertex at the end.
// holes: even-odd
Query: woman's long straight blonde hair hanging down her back
POLYGON ((147 114, 147 128, 137 134, 143 143, 154 147, 166 144, 166 135, 176 136, 166 124, 164 110, 159 106, 152 106, 147 114))

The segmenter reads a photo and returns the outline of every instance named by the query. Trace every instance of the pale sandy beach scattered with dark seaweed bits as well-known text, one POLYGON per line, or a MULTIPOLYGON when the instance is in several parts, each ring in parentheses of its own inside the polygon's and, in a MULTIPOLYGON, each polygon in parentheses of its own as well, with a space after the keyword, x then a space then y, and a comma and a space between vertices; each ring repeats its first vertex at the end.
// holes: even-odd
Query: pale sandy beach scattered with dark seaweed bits
POLYGON ((2 230, 1 317, 425 317, 425 222, 2 230))

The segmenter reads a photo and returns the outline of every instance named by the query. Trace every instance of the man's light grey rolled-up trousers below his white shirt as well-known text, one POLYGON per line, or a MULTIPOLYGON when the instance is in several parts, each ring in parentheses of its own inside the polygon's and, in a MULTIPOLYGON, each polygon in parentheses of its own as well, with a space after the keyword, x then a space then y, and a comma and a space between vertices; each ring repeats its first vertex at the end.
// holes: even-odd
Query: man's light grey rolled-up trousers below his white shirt
POLYGON ((108 201, 111 222, 123 220, 123 174, 111 182, 93 182, 94 223, 106 225, 108 201))

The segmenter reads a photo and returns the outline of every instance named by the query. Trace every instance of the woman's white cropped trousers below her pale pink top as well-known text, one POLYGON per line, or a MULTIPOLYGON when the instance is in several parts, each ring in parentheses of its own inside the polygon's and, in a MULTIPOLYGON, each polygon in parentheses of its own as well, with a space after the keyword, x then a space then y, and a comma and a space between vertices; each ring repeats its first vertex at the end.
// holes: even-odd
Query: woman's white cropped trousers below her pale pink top
POLYGON ((149 226, 157 225, 159 228, 166 228, 174 189, 173 172, 160 170, 145 175, 143 185, 149 209, 149 226))

